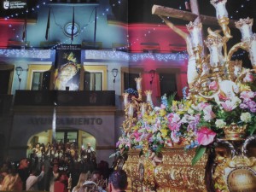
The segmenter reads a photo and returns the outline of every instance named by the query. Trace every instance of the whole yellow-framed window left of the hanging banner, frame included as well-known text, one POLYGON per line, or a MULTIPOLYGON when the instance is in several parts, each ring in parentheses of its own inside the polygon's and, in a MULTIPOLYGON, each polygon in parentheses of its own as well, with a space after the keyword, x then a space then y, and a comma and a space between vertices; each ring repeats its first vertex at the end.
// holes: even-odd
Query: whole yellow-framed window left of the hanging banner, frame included
POLYGON ((52 90, 52 65, 29 65, 26 87, 28 90, 52 90))

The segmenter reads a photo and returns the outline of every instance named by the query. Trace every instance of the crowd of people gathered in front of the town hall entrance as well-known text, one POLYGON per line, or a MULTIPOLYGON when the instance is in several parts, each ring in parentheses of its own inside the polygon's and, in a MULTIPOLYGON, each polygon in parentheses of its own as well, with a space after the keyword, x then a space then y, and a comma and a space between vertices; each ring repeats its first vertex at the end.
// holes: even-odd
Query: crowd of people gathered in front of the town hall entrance
POLYGON ((125 172, 113 172, 104 160, 96 164, 90 143, 79 154, 69 143, 56 146, 38 143, 29 158, 3 162, 0 173, 2 191, 106 192, 122 191, 127 186, 125 172))

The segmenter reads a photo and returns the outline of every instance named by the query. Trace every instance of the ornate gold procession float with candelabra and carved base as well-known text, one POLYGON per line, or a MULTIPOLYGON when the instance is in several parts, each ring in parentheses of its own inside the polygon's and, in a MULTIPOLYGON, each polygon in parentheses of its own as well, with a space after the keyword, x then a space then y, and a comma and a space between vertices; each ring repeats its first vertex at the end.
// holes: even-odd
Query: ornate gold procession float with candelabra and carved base
MULTIPOLYGON (((172 26, 174 31, 185 37, 187 43, 189 42, 189 96, 186 97, 185 102, 183 101, 179 104, 181 108, 189 106, 189 109, 191 109, 190 106, 192 104, 195 108, 198 107, 196 105, 198 103, 206 104, 210 107, 207 109, 201 108, 201 111, 206 109, 208 112, 207 118, 209 119, 204 122, 208 127, 197 124, 201 127, 190 130, 196 133, 196 135, 191 134, 192 137, 187 137, 191 132, 185 127, 187 132, 183 131, 185 132, 183 140, 181 143, 175 142, 176 136, 173 137, 172 133, 176 130, 173 128, 174 125, 170 125, 172 123, 168 121, 169 114, 166 115, 166 111, 161 110, 161 108, 154 109, 151 90, 145 91, 147 102, 143 102, 142 79, 136 79, 138 96, 131 96, 130 101, 128 101, 129 94, 124 94, 125 121, 122 128, 125 137, 121 137, 119 140, 125 146, 119 146, 121 148, 120 154, 122 150, 129 150, 127 159, 123 159, 124 161, 120 164, 129 177, 128 191, 256 191, 256 150, 253 148, 253 144, 255 145, 256 143, 256 136, 246 137, 248 132, 247 123, 250 122, 252 125, 252 122, 256 122, 251 121, 255 117, 255 111, 247 110, 247 113, 245 113, 244 108, 240 108, 237 104, 238 102, 241 103, 241 95, 245 94, 241 94, 242 91, 251 91, 252 93, 250 94, 253 94, 253 96, 248 96, 248 98, 255 102, 255 90, 251 90, 247 84, 247 82, 253 84, 253 73, 255 73, 256 69, 256 34, 252 32, 253 20, 247 18, 236 22, 236 27, 241 30, 241 43, 235 44, 228 51, 227 42, 232 36, 228 27, 228 13, 225 9, 227 0, 211 0, 210 2, 216 8, 218 24, 222 29, 223 36, 219 34, 220 31, 213 32, 208 28, 205 44, 210 51, 209 55, 205 55, 201 23, 190 22, 187 26, 190 34, 183 35, 166 18, 161 17, 168 26, 172 26), (253 69, 243 68, 241 61, 231 61, 231 57, 237 49, 244 49, 249 52, 253 69), (218 108, 219 106, 221 108, 218 108), (215 108, 215 110, 218 108, 218 110, 213 113, 212 108, 215 108), (227 108, 227 111, 224 111, 223 108, 227 108), (231 116, 229 119, 225 119, 225 117, 223 119, 215 119, 218 112, 230 112, 236 110, 236 108, 241 109, 236 113, 242 114, 243 117, 239 115, 238 118, 231 116), (155 118, 157 115, 160 117, 159 119, 155 118), (215 124, 210 124, 212 119, 215 120, 215 124), (240 122, 237 119, 240 119, 240 122), (216 125, 217 120, 218 125, 216 125), (233 123, 233 120, 236 123, 233 123), (153 124, 155 126, 150 126, 153 124), (212 132, 216 127, 218 129, 215 129, 215 131, 217 130, 218 136, 216 132, 212 132), (170 130, 172 130, 171 134, 168 132, 170 130), (197 133, 201 130, 205 131, 203 134, 207 137, 205 141, 208 140, 208 143, 199 143, 200 136, 197 133), (160 139, 158 143, 149 141, 148 137, 154 139, 152 135, 155 132, 154 137, 164 139, 160 139), (170 138, 166 138, 167 132, 171 135, 170 138), (223 135, 225 137, 222 137, 223 135), (135 141, 135 143, 131 143, 131 140, 135 141), (183 143, 189 143, 189 146, 191 146, 191 143, 193 143, 191 141, 198 142, 197 149, 185 150, 183 143), (164 146, 164 148, 159 150, 158 146, 164 146), (135 149, 139 147, 140 149, 135 149), (195 154, 199 154, 200 148, 204 150, 201 151, 201 154, 206 151, 207 153, 202 155, 201 160, 197 158, 199 160, 197 161, 195 157, 200 155, 195 154), (191 161, 197 161, 197 163, 192 166, 191 161)), ((189 109, 186 111, 189 118, 195 118, 193 115, 202 113, 189 113, 189 109)), ((177 114, 184 113, 185 110, 173 111, 175 110, 172 110, 171 115, 176 112, 177 114)), ((191 109, 191 111, 193 110, 191 109)), ((200 116, 200 118, 204 119, 206 116, 200 116)), ((183 120, 186 121, 187 119, 183 120)), ((255 127, 253 129, 255 131, 255 127)), ((193 147, 195 148, 195 146, 193 147)))

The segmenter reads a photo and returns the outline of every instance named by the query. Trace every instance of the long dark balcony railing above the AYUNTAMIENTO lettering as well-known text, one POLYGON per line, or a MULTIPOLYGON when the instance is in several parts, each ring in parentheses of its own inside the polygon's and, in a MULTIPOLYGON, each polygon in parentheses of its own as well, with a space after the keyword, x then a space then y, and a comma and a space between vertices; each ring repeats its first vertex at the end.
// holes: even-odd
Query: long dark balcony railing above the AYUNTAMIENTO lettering
POLYGON ((16 90, 15 106, 115 106, 114 90, 16 90))

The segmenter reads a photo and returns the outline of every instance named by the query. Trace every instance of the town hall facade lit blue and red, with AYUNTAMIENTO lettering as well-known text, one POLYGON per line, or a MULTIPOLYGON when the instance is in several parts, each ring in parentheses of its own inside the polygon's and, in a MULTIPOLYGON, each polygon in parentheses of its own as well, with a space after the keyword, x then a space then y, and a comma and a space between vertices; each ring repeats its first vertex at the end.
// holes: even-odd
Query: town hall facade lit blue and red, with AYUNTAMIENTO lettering
POLYGON ((123 92, 136 90, 134 79, 142 77, 155 105, 165 93, 182 97, 185 42, 164 24, 117 20, 108 1, 37 3, 26 9, 26 21, 11 15, 0 20, 1 158, 18 160, 30 145, 55 139, 79 149, 89 142, 97 161, 111 163, 124 119, 123 92), (61 45, 80 47, 76 90, 55 88, 61 45))

